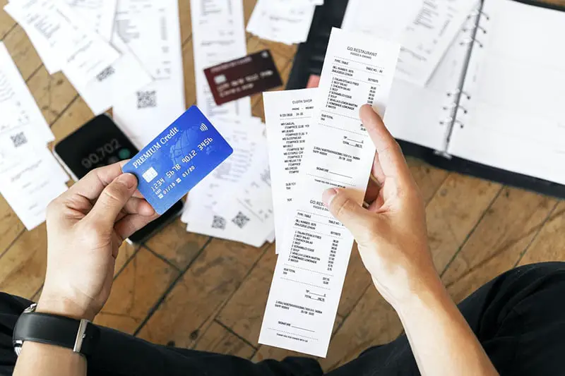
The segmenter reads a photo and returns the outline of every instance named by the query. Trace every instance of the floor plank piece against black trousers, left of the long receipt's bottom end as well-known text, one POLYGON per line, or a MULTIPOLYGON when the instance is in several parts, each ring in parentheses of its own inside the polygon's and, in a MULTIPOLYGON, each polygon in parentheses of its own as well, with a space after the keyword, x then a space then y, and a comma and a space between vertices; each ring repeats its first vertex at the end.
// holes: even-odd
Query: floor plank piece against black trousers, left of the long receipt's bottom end
POLYGON ((215 321, 208 327, 206 333, 200 337, 194 349, 239 356, 239 358, 245 359, 251 358, 255 353, 255 348, 246 344, 244 340, 215 321))

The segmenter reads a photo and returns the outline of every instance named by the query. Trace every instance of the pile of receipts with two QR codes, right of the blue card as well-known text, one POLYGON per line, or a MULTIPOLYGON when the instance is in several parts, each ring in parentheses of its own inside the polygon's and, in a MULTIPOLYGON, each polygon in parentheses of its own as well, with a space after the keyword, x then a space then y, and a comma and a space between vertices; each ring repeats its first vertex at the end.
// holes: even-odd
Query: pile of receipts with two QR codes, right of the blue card
POLYGON ((212 118, 234 153, 189 193, 186 230, 259 247, 274 241, 265 126, 258 118, 212 118))

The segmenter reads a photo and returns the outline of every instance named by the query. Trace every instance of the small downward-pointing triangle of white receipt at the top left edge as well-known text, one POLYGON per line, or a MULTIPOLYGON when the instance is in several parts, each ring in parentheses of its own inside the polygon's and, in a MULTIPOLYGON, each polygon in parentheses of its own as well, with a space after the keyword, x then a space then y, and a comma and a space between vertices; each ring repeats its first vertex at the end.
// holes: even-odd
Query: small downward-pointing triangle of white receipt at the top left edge
POLYGON ((117 0, 64 0, 104 40, 112 40, 117 0))

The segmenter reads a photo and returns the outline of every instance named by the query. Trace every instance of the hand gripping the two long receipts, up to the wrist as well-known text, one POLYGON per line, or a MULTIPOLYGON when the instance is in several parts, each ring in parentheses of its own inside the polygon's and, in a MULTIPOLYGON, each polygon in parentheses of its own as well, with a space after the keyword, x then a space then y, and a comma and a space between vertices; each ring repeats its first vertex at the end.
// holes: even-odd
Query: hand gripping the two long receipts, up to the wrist
POLYGON ((349 229, 376 288, 388 303, 398 305, 439 283, 427 245, 426 219, 420 191, 398 143, 381 117, 369 106, 361 120, 376 147, 364 209, 346 190, 326 190, 323 202, 349 229))

